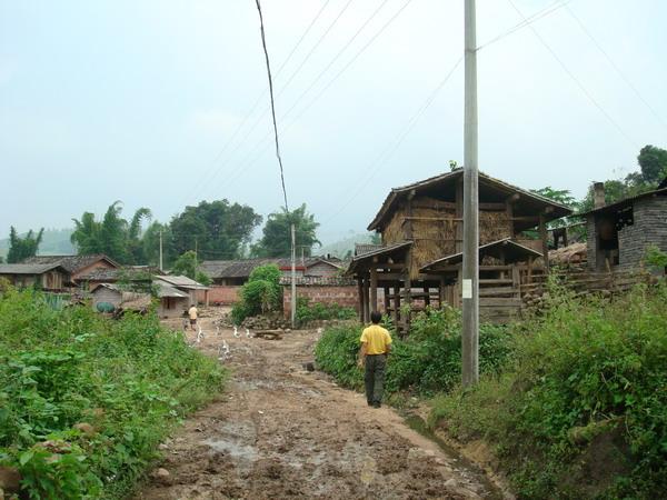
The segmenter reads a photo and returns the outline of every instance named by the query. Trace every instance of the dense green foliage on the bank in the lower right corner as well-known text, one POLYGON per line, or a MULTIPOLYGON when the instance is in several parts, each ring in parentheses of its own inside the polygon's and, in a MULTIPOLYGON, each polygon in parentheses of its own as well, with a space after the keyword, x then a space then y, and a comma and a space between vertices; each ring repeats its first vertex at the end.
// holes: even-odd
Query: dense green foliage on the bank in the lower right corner
POLYGON ((434 422, 499 451, 522 498, 667 491, 667 286, 605 301, 560 291, 499 378, 436 400, 434 422))

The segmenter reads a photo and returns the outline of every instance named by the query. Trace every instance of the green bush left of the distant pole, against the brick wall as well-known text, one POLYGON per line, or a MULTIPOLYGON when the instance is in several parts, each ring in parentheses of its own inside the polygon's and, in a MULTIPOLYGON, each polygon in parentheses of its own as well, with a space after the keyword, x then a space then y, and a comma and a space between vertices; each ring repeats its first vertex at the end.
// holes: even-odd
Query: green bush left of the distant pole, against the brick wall
POLYGON ((280 269, 276 264, 255 268, 248 282, 241 287, 241 300, 231 310, 235 324, 250 317, 279 311, 282 308, 280 269))

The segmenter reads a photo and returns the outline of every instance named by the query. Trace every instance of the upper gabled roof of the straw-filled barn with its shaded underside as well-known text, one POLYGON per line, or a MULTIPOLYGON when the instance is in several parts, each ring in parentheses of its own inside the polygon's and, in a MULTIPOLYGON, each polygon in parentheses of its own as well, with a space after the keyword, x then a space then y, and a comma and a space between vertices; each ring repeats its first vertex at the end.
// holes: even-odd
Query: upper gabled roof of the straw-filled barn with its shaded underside
MULTIPOLYGON (((368 226, 369 231, 381 231, 387 223, 389 216, 394 212, 397 204, 406 199, 410 192, 416 196, 429 196, 437 199, 455 200, 456 184, 462 178, 464 170, 457 169, 440 176, 431 177, 412 184, 394 188, 385 199, 382 207, 368 226)), ((545 208, 551 207, 551 212, 546 216, 546 220, 559 219, 569 216, 573 211, 568 207, 557 203, 554 200, 518 188, 516 186, 495 179, 486 173, 479 172, 479 199, 480 201, 504 201, 511 194, 519 194, 515 203, 515 214, 532 216, 545 208)))

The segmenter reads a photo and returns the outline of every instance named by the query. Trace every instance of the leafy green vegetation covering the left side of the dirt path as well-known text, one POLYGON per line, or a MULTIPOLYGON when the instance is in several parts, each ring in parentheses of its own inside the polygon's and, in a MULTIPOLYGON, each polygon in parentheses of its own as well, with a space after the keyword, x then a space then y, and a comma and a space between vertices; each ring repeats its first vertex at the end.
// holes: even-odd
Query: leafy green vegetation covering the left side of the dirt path
POLYGON ((123 498, 222 369, 152 314, 112 321, 2 290, 0 466, 26 498, 123 498))

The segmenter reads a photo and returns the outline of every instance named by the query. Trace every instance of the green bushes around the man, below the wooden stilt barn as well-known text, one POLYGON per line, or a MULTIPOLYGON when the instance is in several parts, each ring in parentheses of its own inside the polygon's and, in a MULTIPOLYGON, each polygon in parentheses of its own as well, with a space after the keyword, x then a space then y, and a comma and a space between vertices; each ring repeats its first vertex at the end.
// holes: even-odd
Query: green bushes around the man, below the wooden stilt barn
MULTIPOLYGON (((460 331, 458 310, 429 309, 417 314, 407 339, 392 334, 387 390, 432 393, 456 386, 461 377, 460 331)), ((331 328, 325 331, 316 347, 318 367, 339 382, 355 388, 359 388, 362 381, 362 372, 356 363, 360 334, 361 328, 354 323, 331 328)), ((479 336, 480 371, 496 373, 511 348, 511 336, 506 328, 482 324, 479 336)))

